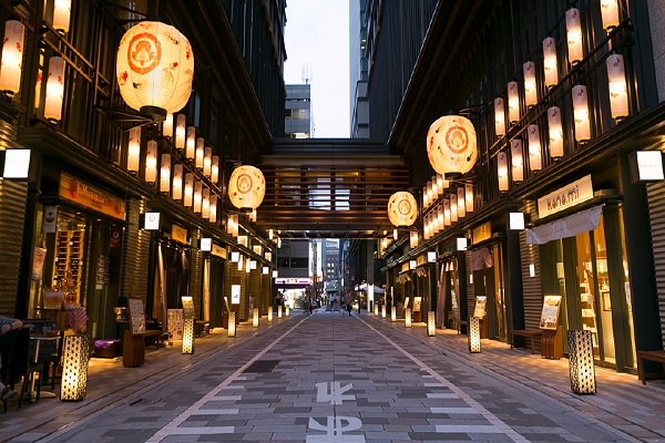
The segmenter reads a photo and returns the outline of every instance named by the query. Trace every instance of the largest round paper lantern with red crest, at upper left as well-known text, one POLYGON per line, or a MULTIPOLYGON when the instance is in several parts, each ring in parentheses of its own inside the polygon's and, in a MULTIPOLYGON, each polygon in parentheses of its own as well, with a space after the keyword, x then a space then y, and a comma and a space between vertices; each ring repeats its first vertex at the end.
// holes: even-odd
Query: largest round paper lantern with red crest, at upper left
POLYGON ((158 21, 132 27, 120 41, 115 73, 126 104, 157 121, 184 107, 192 92, 194 54, 177 29, 158 21))

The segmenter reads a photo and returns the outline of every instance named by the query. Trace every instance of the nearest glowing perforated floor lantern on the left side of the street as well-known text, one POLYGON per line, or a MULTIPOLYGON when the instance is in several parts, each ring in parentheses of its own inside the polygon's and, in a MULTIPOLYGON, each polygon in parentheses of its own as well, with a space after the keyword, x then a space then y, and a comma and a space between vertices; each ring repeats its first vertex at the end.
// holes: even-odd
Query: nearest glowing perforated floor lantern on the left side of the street
POLYGON ((62 384, 60 400, 80 401, 88 390, 90 338, 86 334, 66 336, 62 349, 62 384))

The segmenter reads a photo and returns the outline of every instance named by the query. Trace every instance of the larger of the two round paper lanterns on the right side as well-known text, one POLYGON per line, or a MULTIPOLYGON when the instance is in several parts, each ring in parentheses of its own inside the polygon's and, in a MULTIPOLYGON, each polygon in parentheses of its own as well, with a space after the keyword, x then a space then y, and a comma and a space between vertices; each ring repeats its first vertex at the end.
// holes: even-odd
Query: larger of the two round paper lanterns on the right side
POLYGON ((478 157, 475 130, 469 119, 444 115, 427 133, 427 156, 436 172, 454 177, 471 171, 478 157))

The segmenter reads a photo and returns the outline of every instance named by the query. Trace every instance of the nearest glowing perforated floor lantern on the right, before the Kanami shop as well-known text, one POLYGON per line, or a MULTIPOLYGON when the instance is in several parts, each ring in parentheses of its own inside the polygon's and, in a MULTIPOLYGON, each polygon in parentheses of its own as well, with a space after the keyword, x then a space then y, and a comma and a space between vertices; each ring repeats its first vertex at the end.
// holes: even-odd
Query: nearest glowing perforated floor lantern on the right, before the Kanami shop
POLYGON ((595 394, 592 332, 569 330, 567 340, 571 390, 576 394, 595 394))

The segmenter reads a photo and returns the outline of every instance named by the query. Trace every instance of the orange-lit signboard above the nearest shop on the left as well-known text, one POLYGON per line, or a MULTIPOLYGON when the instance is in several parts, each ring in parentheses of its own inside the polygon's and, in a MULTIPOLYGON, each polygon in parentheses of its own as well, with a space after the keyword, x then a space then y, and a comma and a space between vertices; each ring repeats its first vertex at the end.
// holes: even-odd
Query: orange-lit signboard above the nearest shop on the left
POLYGON ((65 200, 120 220, 125 219, 125 202, 68 174, 60 174, 59 195, 65 200))

